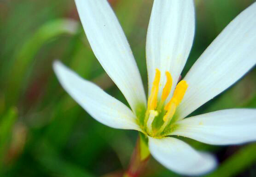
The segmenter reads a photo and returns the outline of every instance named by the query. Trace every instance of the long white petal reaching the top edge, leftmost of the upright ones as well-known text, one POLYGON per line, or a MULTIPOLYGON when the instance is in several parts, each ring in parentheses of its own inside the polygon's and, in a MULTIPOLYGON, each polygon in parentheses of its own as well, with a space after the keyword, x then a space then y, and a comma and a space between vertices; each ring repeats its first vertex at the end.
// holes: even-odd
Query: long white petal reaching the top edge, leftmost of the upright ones
POLYGON ((99 60, 132 110, 146 103, 134 56, 122 28, 106 0, 75 0, 81 23, 99 60))

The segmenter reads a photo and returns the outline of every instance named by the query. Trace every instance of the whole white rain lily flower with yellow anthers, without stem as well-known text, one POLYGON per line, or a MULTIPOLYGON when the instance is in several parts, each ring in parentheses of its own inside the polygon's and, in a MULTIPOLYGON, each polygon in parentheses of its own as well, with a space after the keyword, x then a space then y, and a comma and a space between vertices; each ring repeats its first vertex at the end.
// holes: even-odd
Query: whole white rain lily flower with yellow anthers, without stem
POLYGON ((256 109, 221 110, 186 118, 256 64, 256 3, 228 24, 179 82, 194 38, 194 3, 155 0, 146 37, 146 101, 134 56, 111 6, 106 0, 75 2, 95 56, 131 108, 55 61, 59 82, 93 118, 109 127, 144 133, 151 155, 185 175, 208 172, 216 160, 174 135, 215 145, 256 140, 256 109))

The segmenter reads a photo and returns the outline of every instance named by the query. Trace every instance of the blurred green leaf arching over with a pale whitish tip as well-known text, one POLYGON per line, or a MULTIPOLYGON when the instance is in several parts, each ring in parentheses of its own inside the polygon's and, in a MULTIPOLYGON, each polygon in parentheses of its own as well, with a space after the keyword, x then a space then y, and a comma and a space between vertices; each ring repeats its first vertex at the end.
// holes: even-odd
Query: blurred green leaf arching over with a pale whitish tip
POLYGON ((77 22, 70 19, 58 19, 47 22, 23 45, 22 49, 14 56, 14 65, 6 79, 6 95, 9 105, 15 104, 20 89, 24 84, 24 77, 36 53, 48 40, 63 34, 75 34, 77 22))

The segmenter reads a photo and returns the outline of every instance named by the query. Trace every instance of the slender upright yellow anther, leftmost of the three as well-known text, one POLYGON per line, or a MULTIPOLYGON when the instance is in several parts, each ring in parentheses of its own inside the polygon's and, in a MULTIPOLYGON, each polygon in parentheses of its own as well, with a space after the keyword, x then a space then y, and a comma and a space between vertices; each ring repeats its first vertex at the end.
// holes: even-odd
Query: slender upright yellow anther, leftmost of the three
POLYGON ((158 89, 159 89, 159 82, 160 82, 160 71, 159 69, 156 69, 156 75, 155 79, 151 88, 151 94, 148 98, 148 110, 155 110, 157 107, 157 94, 158 94, 158 89))

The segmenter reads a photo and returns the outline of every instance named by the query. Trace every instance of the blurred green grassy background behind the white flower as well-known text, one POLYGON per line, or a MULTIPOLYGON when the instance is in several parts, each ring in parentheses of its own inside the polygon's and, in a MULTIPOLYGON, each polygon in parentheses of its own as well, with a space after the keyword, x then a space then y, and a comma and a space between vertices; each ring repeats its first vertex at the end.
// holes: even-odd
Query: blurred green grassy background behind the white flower
MULTIPOLYGON (((221 30, 254 0, 196 0, 196 34, 182 76, 221 30)), ((147 84, 145 39, 152 0, 110 0, 147 84)), ((0 0, 0 177, 118 177, 138 133, 96 122, 61 88, 52 61, 126 103, 93 55, 73 0, 0 0)), ((256 68, 192 114, 256 108, 256 68)), ((256 177, 256 143, 211 146, 210 177, 256 177)), ((153 158, 144 177, 177 177, 153 158)))

